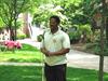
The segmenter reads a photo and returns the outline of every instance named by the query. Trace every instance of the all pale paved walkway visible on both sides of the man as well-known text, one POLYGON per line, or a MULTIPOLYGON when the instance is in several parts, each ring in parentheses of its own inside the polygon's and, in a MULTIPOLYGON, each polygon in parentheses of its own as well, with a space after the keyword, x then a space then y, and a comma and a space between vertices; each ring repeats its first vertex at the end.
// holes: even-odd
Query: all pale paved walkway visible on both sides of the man
MULTIPOLYGON (((32 44, 33 46, 40 48, 40 43, 29 39, 21 41, 22 43, 32 44)), ((96 69, 99 68, 99 56, 93 55, 80 51, 70 50, 67 54, 68 66, 85 69, 96 69)), ((18 66, 42 66, 42 64, 35 63, 0 63, 0 65, 18 65, 18 66)), ((104 71, 108 72, 108 56, 105 56, 104 60, 104 71)))

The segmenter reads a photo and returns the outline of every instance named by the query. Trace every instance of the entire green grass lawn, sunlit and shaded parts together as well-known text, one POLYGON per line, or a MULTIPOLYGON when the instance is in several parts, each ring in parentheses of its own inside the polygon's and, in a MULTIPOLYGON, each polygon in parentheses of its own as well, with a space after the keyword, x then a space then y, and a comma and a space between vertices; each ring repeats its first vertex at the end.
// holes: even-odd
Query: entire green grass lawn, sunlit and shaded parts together
MULTIPOLYGON (((23 44, 15 52, 0 52, 0 62, 36 63, 42 60, 42 53, 36 48, 23 44)), ((0 66, 0 81, 42 81, 39 66, 0 66)), ((98 81, 96 70, 71 68, 67 70, 67 81, 98 81)), ((108 73, 104 73, 104 81, 108 81, 108 73)))

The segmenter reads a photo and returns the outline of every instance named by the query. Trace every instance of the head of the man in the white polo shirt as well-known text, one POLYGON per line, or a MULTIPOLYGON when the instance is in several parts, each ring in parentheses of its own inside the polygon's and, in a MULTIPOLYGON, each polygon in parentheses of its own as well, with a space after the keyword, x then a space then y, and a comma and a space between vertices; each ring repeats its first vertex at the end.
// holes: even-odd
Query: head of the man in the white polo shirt
POLYGON ((58 16, 56 16, 56 15, 51 16, 50 17, 50 28, 51 28, 51 30, 57 29, 59 23, 60 23, 60 19, 59 19, 58 16))

